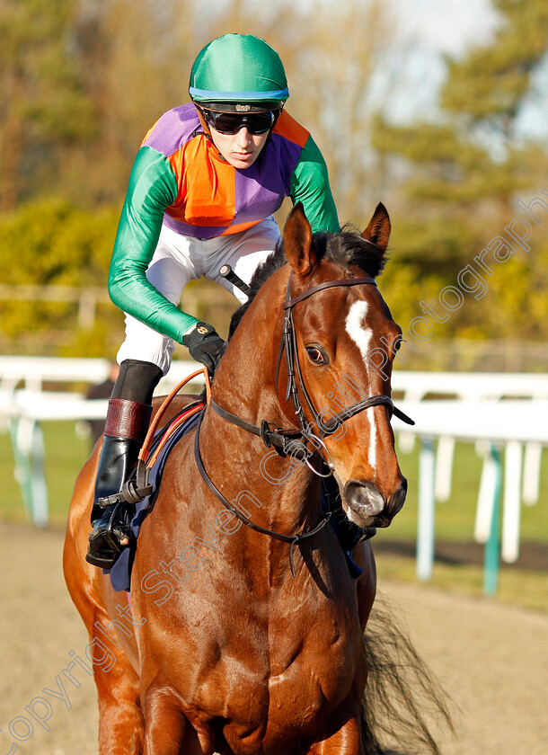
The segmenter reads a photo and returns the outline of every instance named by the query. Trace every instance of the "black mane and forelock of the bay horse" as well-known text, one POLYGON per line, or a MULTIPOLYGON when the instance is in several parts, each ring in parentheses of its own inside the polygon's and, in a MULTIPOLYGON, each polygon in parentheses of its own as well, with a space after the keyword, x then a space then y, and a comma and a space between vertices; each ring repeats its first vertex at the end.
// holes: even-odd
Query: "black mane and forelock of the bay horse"
MULTIPOLYGON (((337 234, 315 233, 313 239, 320 259, 336 262, 344 269, 349 268, 350 265, 357 265, 372 278, 376 278, 384 269, 386 259, 376 251, 376 244, 367 241, 355 228, 345 226, 337 234)), ((234 315, 232 315, 228 333, 229 340, 240 324, 248 306, 261 289, 262 284, 285 264, 287 264, 287 259, 284 244, 280 240, 274 252, 270 253, 253 273, 250 281, 252 293, 245 304, 236 309, 234 315)))

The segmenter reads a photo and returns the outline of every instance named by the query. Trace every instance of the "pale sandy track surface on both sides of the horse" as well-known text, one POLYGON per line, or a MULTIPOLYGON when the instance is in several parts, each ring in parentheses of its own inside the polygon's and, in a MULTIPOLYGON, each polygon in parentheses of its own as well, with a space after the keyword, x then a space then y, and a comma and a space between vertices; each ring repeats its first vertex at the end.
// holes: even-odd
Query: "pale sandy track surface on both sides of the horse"
MULTIPOLYGON (((63 580, 63 539, 0 523, 0 755, 97 755, 93 679, 77 664, 73 681, 63 674, 88 642, 63 580)), ((379 590, 460 708, 456 737, 440 738, 446 755, 546 755, 548 616, 419 585, 379 590)))

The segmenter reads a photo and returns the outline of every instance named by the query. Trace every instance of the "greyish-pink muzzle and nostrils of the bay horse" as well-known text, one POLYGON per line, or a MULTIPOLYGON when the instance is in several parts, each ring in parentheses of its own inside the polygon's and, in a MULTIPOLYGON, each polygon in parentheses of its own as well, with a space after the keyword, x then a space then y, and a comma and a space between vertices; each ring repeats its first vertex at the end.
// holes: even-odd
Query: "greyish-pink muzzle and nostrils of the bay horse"
POLYGON ((349 518, 360 527, 388 527, 400 511, 407 495, 407 480, 402 477, 395 491, 384 498, 374 483, 349 480, 342 496, 353 516, 349 518))

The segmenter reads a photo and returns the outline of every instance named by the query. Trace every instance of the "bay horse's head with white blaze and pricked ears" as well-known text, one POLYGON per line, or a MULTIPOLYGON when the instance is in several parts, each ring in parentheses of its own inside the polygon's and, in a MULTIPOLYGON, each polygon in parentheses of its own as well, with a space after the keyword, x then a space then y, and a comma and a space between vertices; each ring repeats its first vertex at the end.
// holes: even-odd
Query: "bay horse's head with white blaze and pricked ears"
POLYGON ((313 235, 300 206, 292 210, 284 230, 292 271, 288 299, 298 298, 289 307, 298 401, 313 428, 320 424, 320 433, 327 433, 324 442, 344 509, 362 527, 388 526, 407 490, 394 449, 392 407, 383 403, 391 394, 402 331, 373 280, 384 267, 389 235, 390 219, 382 204, 361 235, 346 230, 313 235), (349 279, 356 284, 345 285, 349 279), (307 293, 330 281, 332 286, 307 293), (373 405, 364 408, 375 396, 369 402, 373 405))

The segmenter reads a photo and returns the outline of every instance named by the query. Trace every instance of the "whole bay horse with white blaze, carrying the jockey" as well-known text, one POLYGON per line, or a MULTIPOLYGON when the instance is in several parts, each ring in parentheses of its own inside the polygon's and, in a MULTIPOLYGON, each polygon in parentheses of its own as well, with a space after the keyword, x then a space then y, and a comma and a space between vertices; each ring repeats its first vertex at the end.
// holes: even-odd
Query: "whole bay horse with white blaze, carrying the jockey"
POLYGON ((199 436, 167 459, 129 606, 84 557, 100 443, 78 476, 64 571, 89 633, 101 755, 369 751, 375 561, 362 541, 363 573, 350 576, 323 526, 319 475, 335 475, 361 527, 387 527, 405 499, 390 424, 401 330, 374 280, 389 234, 381 204, 362 235, 313 235, 302 207, 291 211, 234 320, 199 436), (360 388, 351 407, 343 384, 360 388))

